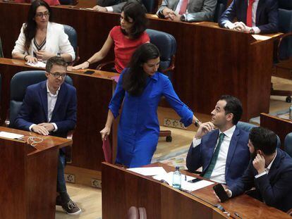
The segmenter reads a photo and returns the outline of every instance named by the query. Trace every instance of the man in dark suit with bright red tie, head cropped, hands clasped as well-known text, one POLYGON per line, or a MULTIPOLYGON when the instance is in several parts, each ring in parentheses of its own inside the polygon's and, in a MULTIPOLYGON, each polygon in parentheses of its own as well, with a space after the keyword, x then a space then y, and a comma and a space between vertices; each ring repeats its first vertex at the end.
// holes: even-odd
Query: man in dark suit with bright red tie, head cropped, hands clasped
POLYGON ((219 18, 219 26, 251 34, 278 32, 278 1, 247 1, 233 0, 219 18), (232 23, 234 18, 236 23, 232 23))

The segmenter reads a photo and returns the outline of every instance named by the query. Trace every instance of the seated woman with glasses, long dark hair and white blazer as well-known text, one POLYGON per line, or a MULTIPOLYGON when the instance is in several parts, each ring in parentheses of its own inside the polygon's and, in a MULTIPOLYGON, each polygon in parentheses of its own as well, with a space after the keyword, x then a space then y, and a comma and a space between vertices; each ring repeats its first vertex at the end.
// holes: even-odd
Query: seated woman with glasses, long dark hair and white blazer
POLYGON ((63 25, 51 23, 51 8, 42 0, 32 1, 28 21, 21 27, 12 57, 30 63, 47 61, 61 56, 66 62, 74 61, 75 52, 63 25))

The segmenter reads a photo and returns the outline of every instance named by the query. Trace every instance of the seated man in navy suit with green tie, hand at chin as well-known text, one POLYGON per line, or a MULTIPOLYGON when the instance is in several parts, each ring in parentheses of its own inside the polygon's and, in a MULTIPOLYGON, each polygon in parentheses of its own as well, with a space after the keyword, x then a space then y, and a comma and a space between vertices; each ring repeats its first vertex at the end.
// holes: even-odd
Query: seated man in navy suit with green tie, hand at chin
POLYGON ((211 112, 212 120, 202 123, 188 150, 190 172, 202 167, 202 176, 233 184, 248 167, 248 132, 238 129, 243 108, 236 97, 224 95, 211 112), (218 129, 214 130, 214 127, 218 129))

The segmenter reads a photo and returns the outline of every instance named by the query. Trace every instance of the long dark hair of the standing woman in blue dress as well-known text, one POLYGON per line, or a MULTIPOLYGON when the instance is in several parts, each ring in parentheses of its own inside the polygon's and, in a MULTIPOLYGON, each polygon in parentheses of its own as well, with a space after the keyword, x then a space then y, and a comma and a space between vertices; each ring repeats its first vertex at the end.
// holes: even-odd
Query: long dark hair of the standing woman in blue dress
POLYGON ((159 56, 159 50, 154 44, 147 43, 139 46, 130 59, 128 70, 123 75, 123 89, 132 96, 140 96, 145 89, 148 77, 142 65, 159 56))

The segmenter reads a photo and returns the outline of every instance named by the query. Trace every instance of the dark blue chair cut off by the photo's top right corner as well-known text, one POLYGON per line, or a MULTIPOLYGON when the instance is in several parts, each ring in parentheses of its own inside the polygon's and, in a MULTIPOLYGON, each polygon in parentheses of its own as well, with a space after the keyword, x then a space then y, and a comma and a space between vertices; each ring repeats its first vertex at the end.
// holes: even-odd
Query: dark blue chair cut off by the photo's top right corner
MULTIPOLYGON (((275 54, 274 70, 288 70, 292 73, 292 1, 279 0, 279 32, 284 35, 279 39, 275 54)), ((280 75, 279 75, 280 76, 280 75)), ((289 75, 290 76, 290 75, 289 75)), ((290 76, 291 77, 291 76, 290 76)), ((291 91, 271 89, 271 95, 287 96, 291 103, 291 91)))

